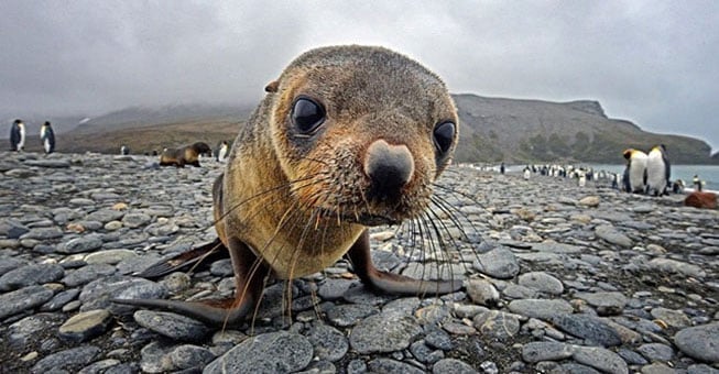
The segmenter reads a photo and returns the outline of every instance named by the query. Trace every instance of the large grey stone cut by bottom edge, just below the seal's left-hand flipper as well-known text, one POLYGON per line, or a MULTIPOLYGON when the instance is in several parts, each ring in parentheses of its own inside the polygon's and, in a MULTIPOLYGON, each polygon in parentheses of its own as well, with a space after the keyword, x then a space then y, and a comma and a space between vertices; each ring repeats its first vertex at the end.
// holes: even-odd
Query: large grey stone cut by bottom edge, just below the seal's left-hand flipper
POLYGON ((205 374, 290 373, 307 367, 313 358, 309 341, 286 331, 250 338, 205 367, 205 374))

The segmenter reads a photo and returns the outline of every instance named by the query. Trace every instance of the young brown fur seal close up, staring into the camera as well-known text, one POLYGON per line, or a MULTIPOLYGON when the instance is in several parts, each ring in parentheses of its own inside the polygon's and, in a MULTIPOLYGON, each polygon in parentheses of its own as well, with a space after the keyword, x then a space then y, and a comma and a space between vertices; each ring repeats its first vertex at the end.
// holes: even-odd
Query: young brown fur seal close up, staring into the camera
POLYGON ((458 116, 445 84, 383 47, 329 46, 294 59, 237 135, 213 185, 218 240, 232 261, 235 298, 115 300, 236 323, 263 278, 313 274, 348 255, 362 283, 389 294, 446 294, 460 280, 378 270, 368 228, 425 213, 450 163, 458 116))

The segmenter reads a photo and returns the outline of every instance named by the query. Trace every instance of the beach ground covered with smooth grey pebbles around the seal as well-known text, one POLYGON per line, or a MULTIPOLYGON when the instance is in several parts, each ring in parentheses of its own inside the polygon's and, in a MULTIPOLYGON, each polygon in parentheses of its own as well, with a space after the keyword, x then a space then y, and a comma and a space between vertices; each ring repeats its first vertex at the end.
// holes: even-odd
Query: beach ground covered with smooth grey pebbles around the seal
POLYGON ((152 161, 0 153, 0 372, 719 373, 719 212, 682 197, 453 167, 428 216, 442 241, 425 220, 372 248, 462 292, 375 295, 342 261, 216 328, 109 301, 233 293, 228 258, 133 275, 215 238, 222 165, 152 161))

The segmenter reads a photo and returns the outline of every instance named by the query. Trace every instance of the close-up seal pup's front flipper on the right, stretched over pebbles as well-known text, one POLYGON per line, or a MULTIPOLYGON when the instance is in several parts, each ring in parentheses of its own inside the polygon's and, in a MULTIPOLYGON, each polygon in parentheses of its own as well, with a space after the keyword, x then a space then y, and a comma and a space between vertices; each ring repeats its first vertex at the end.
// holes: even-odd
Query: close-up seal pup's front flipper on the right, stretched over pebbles
POLYGON ((370 255, 370 237, 366 230, 347 252, 355 273, 367 286, 395 295, 450 294, 461 288, 461 280, 421 280, 382 272, 374 267, 370 255))

